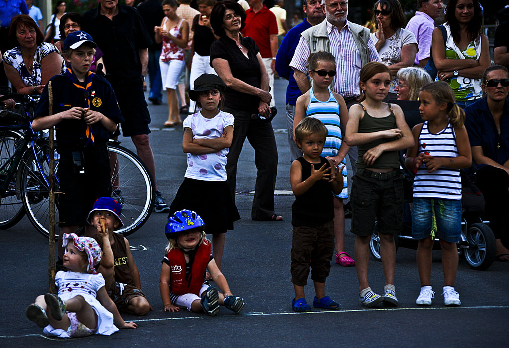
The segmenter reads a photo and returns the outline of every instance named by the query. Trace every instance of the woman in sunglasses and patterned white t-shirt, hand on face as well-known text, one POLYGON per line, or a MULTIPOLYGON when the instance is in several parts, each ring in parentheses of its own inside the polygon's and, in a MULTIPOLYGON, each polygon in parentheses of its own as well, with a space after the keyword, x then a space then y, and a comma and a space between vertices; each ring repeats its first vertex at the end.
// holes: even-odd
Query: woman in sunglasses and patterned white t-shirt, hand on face
POLYGON ((410 67, 415 61, 417 40, 412 32, 403 28, 405 14, 398 0, 379 0, 375 4, 374 21, 378 32, 371 39, 393 79, 385 101, 397 99, 394 89, 398 83, 396 74, 401 68, 410 67))

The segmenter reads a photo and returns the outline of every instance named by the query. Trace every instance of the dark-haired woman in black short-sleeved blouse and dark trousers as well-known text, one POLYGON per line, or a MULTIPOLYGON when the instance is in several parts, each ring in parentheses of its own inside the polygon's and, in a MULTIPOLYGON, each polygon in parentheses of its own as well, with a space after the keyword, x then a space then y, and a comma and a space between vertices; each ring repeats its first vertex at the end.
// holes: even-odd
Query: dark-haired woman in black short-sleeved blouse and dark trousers
POLYGON ((244 26, 244 10, 233 1, 217 3, 212 9, 210 22, 219 36, 210 47, 210 62, 224 80, 224 111, 235 117, 232 145, 226 170, 228 185, 235 199, 237 161, 244 139, 254 149, 258 168, 254 189, 251 219, 282 221, 274 212, 274 189, 277 176, 277 148, 270 122, 251 120, 252 114, 270 114, 269 75, 258 46, 251 38, 239 32, 244 26))

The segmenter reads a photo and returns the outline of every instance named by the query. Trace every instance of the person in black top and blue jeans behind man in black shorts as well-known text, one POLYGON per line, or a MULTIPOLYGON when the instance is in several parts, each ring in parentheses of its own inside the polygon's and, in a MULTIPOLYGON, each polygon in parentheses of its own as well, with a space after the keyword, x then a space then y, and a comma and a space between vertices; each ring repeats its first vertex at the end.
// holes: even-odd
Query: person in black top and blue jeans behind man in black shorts
POLYGON ((159 70, 159 55, 161 54, 161 44, 154 40, 154 26, 161 24, 164 17, 160 0, 146 0, 136 8, 145 22, 147 32, 152 39, 152 45, 149 46, 149 78, 150 78, 150 94, 149 100, 154 105, 161 104, 162 81, 161 72, 159 70))

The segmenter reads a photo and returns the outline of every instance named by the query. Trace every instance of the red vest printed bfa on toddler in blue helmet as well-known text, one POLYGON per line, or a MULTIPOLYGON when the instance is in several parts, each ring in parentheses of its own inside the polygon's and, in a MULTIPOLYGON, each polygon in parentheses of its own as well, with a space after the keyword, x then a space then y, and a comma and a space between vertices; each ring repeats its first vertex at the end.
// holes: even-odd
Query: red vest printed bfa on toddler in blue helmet
POLYGON ((186 279, 186 258, 180 249, 172 249, 167 254, 171 268, 172 292, 175 295, 199 295, 207 265, 210 262, 210 244, 202 243, 194 254, 191 274, 186 279))

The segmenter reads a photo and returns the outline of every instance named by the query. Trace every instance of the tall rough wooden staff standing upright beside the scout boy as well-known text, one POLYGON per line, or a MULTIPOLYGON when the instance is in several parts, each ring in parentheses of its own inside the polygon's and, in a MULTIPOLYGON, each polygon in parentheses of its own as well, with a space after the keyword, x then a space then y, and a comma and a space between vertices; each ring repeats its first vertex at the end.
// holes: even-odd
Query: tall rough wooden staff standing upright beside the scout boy
MULTIPOLYGON (((48 81, 48 102, 49 113, 53 114, 53 90, 51 89, 51 81, 48 81)), ((54 146, 53 146, 53 127, 49 128, 49 245, 48 245, 48 280, 49 292, 56 293, 55 289, 55 194, 54 194, 54 146)))

